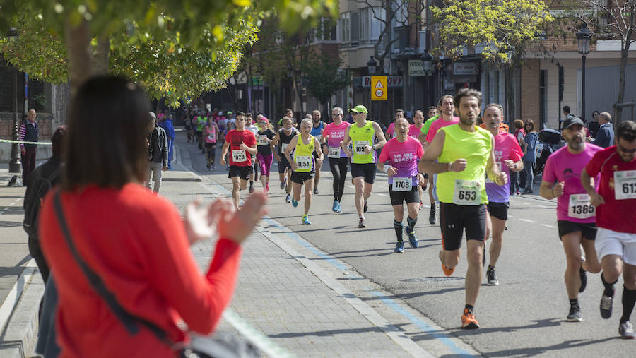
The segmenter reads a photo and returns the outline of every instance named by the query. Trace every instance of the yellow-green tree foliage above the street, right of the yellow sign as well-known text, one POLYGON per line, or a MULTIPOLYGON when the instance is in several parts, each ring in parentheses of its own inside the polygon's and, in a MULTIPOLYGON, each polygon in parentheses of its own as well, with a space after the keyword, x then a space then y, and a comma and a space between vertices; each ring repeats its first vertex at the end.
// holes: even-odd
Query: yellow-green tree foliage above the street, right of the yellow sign
POLYGON ((486 61, 518 63, 554 20, 542 0, 444 0, 442 4, 431 7, 440 29, 437 56, 457 58, 464 49, 483 45, 486 61))

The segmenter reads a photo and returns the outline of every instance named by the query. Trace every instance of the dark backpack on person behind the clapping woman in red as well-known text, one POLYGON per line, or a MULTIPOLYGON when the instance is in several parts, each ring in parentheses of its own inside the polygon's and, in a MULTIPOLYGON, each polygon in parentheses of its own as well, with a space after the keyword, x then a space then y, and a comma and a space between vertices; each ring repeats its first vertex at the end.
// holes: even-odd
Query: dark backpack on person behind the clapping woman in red
POLYGON ((24 198, 24 221, 22 222, 22 227, 29 237, 39 238, 37 236, 37 217, 40 214, 40 208, 42 207, 42 201, 45 195, 47 195, 52 188, 53 181, 59 177, 60 169, 61 167, 55 169, 48 178, 42 177, 42 170, 35 170, 33 172, 35 177, 33 180, 30 180, 24 198))

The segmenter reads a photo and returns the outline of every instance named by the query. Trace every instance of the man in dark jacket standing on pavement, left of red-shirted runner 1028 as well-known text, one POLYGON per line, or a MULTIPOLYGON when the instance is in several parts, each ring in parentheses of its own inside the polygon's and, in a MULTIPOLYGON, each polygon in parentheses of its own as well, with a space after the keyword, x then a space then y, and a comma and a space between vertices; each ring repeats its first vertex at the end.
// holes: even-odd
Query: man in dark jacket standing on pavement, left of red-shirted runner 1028
POLYGON ((167 138, 163 128, 157 125, 157 116, 153 112, 148 115, 148 177, 146 187, 150 189, 151 178, 154 181, 153 191, 159 192, 161 172, 167 170, 167 138))

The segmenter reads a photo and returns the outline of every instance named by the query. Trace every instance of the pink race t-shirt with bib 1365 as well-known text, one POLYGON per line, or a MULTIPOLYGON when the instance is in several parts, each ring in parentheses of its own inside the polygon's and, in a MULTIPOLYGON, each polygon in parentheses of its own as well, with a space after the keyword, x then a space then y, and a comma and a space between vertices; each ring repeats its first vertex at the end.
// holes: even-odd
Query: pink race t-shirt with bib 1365
MULTIPOLYGON (((543 168, 543 180, 548 183, 563 181, 563 195, 557 198, 557 220, 596 222, 596 210, 581 184, 581 172, 594 154, 603 148, 586 143, 582 153, 573 154, 567 145, 552 153, 543 168)), ((594 178, 599 182, 599 177, 594 178)))

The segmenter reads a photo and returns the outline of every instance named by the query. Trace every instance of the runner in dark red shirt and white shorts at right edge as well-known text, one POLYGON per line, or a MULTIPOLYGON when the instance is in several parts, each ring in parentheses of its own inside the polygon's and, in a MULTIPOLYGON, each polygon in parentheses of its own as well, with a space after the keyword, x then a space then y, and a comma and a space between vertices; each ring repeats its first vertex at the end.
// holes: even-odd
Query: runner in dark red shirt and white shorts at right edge
POLYGON ((599 150, 587 163, 581 181, 591 198, 591 205, 596 207, 596 224, 599 225, 595 246, 605 287, 601 296, 601 317, 612 316, 614 285, 623 273, 623 316, 618 334, 633 339, 635 333, 630 316, 636 302, 636 123, 621 122, 616 138, 618 145, 599 150), (601 179, 595 181, 599 183, 599 193, 595 193, 590 179, 599 174, 601 179))

